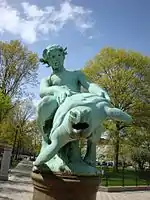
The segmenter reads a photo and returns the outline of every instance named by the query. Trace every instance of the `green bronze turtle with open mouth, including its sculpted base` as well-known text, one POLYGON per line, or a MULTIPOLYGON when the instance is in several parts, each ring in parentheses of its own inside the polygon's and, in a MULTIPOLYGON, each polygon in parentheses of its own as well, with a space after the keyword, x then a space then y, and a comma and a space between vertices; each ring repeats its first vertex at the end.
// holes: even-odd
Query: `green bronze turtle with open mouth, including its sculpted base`
MULTIPOLYGON (((118 108, 112 108, 105 98, 90 93, 67 97, 57 109, 52 129, 34 165, 46 163, 50 170, 74 174, 96 174, 96 143, 104 132, 106 119, 131 122, 131 117, 118 108), (82 159, 78 146, 87 139, 87 152, 82 159), (70 150, 70 148, 72 149, 70 150), (56 156, 57 155, 57 156, 56 156)), ((35 168, 36 169, 36 168, 35 168)))

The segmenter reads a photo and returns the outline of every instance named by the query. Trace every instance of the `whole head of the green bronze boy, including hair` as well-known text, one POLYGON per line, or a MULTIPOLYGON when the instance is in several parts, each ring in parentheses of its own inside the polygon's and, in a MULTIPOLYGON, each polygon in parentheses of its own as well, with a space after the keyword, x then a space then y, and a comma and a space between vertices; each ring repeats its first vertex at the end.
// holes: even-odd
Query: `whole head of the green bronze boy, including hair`
POLYGON ((67 48, 59 45, 48 46, 43 51, 43 58, 40 61, 51 66, 53 70, 63 68, 65 56, 67 55, 67 48))

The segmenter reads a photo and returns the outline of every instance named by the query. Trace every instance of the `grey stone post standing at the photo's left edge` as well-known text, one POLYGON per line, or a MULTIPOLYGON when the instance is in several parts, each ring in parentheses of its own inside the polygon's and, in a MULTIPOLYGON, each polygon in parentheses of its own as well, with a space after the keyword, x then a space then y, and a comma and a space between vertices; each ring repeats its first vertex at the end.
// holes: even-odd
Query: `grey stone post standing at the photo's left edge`
POLYGON ((9 166, 10 166, 11 152, 12 152, 11 147, 4 148, 4 153, 3 153, 2 163, 1 163, 1 170, 0 170, 0 180, 5 180, 5 181, 8 180, 8 171, 9 171, 9 166))

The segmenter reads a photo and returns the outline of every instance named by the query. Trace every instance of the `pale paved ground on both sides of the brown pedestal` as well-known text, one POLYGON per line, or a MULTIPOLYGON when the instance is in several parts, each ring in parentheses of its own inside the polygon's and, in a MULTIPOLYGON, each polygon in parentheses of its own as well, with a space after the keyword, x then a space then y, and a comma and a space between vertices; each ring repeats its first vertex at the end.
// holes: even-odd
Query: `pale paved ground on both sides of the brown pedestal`
MULTIPOLYGON (((32 200, 32 162, 22 161, 11 171, 9 181, 0 181, 0 200, 32 200)), ((97 200, 150 200, 150 192, 98 192, 97 200)))

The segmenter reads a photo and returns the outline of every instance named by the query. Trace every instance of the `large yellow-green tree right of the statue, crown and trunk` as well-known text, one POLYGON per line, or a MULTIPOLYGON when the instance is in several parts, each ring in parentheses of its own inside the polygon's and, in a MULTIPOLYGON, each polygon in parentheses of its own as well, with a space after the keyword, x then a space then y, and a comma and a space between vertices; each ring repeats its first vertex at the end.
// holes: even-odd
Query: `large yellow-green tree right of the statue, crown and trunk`
POLYGON ((121 132, 130 135, 136 143, 134 131, 144 128, 148 132, 150 127, 150 58, 124 49, 104 48, 87 63, 83 72, 108 91, 113 106, 133 117, 132 126, 117 121, 104 124, 111 134, 117 165, 121 132))

